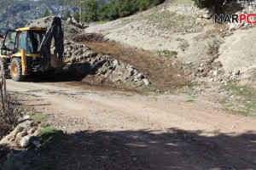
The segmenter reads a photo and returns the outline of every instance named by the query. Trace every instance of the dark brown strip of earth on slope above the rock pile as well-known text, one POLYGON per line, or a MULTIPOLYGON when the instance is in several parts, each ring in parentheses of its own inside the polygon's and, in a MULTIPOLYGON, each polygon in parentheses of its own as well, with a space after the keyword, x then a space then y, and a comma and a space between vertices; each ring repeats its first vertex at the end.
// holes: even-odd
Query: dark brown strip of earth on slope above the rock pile
POLYGON ((118 42, 84 42, 97 53, 109 54, 114 59, 135 66, 147 75, 154 88, 170 90, 186 85, 183 71, 177 69, 172 59, 161 58, 154 52, 124 47, 118 42))

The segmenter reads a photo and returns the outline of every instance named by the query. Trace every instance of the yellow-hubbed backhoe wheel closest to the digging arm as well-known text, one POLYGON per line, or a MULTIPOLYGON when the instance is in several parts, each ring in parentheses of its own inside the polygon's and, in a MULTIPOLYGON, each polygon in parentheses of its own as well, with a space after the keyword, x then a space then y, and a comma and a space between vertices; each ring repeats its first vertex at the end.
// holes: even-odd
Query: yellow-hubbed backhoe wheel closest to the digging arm
POLYGON ((12 79, 15 82, 21 82, 23 80, 21 59, 19 58, 12 59, 11 65, 10 65, 10 74, 12 79))

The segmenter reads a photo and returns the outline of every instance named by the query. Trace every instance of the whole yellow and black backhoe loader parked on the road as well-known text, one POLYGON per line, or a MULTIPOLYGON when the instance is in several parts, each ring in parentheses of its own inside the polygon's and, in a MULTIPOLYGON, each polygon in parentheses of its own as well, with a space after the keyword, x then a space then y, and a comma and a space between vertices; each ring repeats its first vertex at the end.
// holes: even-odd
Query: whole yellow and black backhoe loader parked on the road
POLYGON ((7 31, 1 48, 0 75, 9 71, 16 82, 32 72, 60 71, 63 62, 63 31, 61 19, 55 17, 49 29, 25 27, 7 31), (50 47, 54 38, 55 50, 50 47))

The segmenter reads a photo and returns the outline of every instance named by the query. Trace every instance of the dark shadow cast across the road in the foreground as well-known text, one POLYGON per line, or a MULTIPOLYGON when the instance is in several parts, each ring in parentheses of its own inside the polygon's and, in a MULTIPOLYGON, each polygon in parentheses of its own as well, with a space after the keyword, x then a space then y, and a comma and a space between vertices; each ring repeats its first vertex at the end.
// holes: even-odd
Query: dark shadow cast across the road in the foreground
POLYGON ((254 169, 255 133, 238 136, 171 128, 65 134, 41 150, 23 152, 24 169, 254 169))

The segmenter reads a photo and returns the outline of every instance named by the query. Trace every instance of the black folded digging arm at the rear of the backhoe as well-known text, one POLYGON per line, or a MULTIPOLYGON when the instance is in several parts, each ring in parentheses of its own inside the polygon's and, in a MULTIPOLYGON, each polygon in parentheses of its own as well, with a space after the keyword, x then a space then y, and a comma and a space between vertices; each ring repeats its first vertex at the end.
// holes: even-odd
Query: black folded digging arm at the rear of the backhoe
POLYGON ((64 52, 64 33, 62 31, 61 18, 59 17, 54 18, 38 48, 38 51, 44 59, 44 70, 49 67, 51 59, 50 46, 53 38, 55 40, 57 57, 62 60, 64 52))

